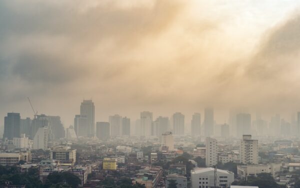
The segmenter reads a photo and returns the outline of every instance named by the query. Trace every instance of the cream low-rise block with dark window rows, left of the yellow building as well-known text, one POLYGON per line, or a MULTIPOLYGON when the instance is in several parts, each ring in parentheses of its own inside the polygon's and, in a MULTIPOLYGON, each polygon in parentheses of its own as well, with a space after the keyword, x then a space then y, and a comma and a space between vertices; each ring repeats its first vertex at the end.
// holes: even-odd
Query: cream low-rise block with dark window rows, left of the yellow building
POLYGON ((76 149, 50 150, 50 160, 59 160, 60 164, 74 165, 76 162, 76 149))

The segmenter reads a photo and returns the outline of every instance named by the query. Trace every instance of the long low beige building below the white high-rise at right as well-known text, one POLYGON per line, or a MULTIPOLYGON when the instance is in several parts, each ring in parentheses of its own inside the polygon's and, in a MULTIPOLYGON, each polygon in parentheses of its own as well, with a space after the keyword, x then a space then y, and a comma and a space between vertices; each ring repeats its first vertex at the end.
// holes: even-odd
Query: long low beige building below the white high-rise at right
POLYGON ((237 176, 245 179, 247 176, 257 176, 259 173, 270 173, 273 177, 281 169, 280 163, 270 164, 247 164, 237 166, 237 176))

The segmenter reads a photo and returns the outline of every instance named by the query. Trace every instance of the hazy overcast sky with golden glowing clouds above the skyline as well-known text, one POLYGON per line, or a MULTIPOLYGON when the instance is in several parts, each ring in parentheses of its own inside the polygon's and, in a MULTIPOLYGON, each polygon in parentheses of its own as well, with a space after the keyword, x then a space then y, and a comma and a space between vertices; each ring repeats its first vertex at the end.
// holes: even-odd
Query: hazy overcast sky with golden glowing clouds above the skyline
MULTIPOLYGON (((300 110, 299 1, 0 1, 0 117, 300 110)), ((202 115, 203 117, 203 115, 202 115)), ((218 119, 219 118, 219 119, 218 119)), ((289 119, 287 119, 289 120, 289 119)))

